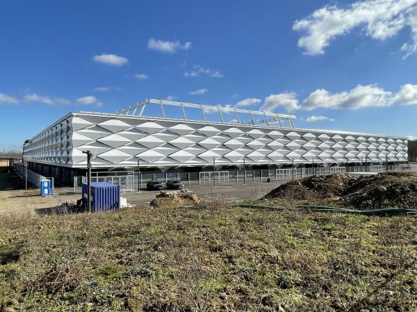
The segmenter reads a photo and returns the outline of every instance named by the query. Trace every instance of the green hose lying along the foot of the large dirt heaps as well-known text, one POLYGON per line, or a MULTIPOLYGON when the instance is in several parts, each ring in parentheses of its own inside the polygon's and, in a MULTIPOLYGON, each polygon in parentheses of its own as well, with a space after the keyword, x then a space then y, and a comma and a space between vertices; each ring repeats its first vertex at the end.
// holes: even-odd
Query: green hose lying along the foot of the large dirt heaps
POLYGON ((275 206, 263 206, 255 204, 236 204, 229 207, 240 207, 240 208, 256 208, 256 209, 265 209, 272 211, 319 211, 319 212, 329 212, 329 213, 354 213, 357 215, 414 215, 417 214, 416 209, 409 208, 384 208, 384 209, 373 209, 366 211, 359 211, 354 209, 346 208, 336 208, 328 206, 309 206, 309 205, 299 205, 295 208, 283 208, 275 206))

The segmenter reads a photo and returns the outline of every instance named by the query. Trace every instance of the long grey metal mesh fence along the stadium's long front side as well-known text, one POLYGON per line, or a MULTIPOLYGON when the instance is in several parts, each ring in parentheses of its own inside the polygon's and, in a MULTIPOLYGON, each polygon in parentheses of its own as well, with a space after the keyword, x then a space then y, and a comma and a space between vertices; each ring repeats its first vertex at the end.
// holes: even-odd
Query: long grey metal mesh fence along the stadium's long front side
MULTIPOLYGON (((409 165, 382 165, 382 166, 345 166, 345 167, 295 167, 265 170, 228 170, 217 171, 215 183, 246 183, 255 181, 291 180, 300 179, 313 175, 329 175, 334 173, 354 173, 354 172, 410 172, 417 171, 417 164, 409 165)), ((184 186, 196 184, 213 184, 213 172, 140 172, 140 188, 146 188, 147 181, 161 181, 166 183, 168 180, 179 180, 184 186)), ((120 185, 122 192, 136 192, 138 190, 137 172, 95 172, 92 182, 108 182, 120 185)), ((74 192, 81 192, 82 183, 86 183, 86 176, 74 177, 74 192)))

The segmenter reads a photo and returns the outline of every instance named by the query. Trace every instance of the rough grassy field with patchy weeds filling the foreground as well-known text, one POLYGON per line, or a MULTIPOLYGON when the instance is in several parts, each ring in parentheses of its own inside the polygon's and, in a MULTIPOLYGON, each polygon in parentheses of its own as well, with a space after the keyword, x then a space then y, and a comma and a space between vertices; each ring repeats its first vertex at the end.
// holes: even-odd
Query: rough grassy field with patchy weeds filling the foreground
POLYGON ((416 217, 212 208, 7 220, 0 311, 417 311, 416 217))

